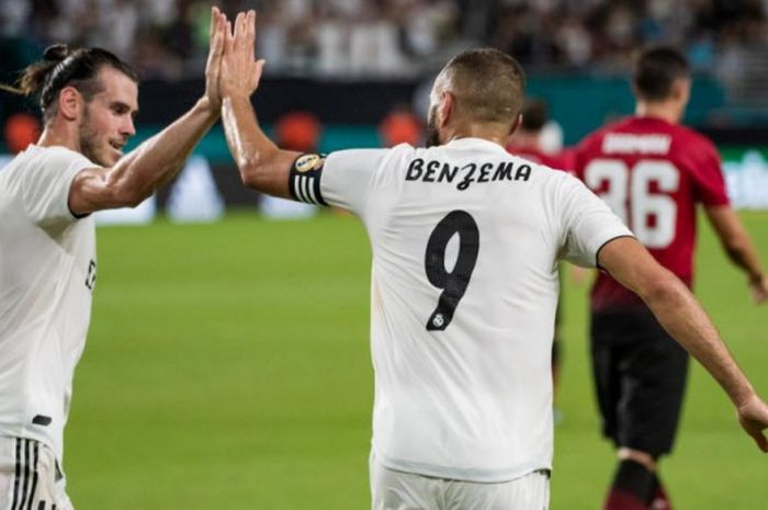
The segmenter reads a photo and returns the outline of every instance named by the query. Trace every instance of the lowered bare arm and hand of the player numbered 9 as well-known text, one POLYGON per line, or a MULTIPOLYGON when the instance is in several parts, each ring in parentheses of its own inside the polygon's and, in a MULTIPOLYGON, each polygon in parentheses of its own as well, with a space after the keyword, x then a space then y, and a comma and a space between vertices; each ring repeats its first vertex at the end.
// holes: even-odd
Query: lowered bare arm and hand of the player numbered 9
POLYGON ((712 374, 727 393, 738 419, 764 452, 768 406, 757 396, 688 287, 663 268, 634 238, 607 243, 598 254, 601 268, 647 304, 659 324, 712 374))

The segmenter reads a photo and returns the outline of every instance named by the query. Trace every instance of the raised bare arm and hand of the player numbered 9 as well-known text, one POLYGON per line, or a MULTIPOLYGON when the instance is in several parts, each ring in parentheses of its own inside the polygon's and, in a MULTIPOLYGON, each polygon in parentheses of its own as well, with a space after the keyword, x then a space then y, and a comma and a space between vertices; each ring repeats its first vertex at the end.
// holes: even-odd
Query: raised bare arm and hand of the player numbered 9
POLYGON ((256 12, 239 13, 226 31, 222 59, 222 121, 229 151, 242 183, 262 193, 292 199, 289 191, 291 167, 300 152, 281 150, 259 126, 250 102, 259 87, 264 60, 256 60, 256 12))

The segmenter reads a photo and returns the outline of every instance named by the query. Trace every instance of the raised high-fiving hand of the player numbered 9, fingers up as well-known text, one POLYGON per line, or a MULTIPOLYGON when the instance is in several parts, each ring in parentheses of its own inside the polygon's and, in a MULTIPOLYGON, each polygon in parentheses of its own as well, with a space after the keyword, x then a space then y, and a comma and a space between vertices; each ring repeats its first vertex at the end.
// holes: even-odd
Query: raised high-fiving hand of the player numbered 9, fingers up
POLYGON ((264 60, 256 60, 256 11, 240 12, 234 31, 227 30, 222 59, 222 97, 249 98, 259 87, 264 60))

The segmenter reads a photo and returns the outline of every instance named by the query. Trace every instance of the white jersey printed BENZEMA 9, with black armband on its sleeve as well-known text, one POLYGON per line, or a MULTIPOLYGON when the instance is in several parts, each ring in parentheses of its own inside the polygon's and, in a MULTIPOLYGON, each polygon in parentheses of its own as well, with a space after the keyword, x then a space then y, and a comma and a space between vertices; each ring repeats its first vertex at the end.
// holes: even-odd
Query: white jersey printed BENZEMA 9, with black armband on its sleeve
POLYGON ((550 469, 557 261, 595 267, 622 222, 577 179, 477 138, 306 155, 290 182, 368 229, 377 462, 473 481, 550 469))

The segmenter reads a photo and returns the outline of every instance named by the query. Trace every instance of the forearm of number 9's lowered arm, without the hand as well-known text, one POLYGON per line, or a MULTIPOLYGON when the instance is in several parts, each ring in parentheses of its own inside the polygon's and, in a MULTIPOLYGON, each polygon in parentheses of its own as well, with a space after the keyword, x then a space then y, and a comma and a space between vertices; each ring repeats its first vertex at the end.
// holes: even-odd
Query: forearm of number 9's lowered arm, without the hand
POLYGON ((736 407, 754 397, 749 381, 682 282, 668 279, 642 297, 664 329, 712 374, 736 407))

